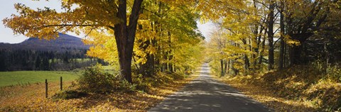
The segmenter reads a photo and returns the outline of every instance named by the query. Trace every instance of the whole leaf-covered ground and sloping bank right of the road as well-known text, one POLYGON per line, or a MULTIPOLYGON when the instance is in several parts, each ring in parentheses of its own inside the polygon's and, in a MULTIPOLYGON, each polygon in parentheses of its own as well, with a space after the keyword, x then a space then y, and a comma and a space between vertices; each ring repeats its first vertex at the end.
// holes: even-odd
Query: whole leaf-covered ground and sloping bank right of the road
POLYGON ((340 111, 341 84, 308 67, 217 78, 276 111, 340 111), (316 77, 320 76, 320 77, 316 77))

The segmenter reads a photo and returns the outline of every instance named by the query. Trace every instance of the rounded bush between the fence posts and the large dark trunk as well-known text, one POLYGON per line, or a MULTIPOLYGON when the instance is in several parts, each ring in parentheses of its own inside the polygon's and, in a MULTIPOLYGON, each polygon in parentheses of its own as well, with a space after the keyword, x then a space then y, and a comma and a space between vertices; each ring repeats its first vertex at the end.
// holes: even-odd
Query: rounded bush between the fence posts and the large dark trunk
POLYGON ((134 86, 126 82, 120 75, 104 72, 99 65, 86 68, 77 82, 80 90, 87 92, 134 91, 134 86))

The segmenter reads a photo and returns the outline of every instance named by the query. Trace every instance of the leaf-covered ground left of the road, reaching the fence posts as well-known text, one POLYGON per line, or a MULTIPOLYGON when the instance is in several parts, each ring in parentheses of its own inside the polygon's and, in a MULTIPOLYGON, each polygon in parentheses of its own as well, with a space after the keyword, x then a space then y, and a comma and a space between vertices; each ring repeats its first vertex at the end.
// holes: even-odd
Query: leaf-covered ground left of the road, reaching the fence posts
MULTIPOLYGON (((141 91, 87 94, 80 99, 52 99, 60 93, 59 83, 49 83, 49 98, 45 99, 45 84, 0 87, 0 111, 147 111, 178 91, 197 75, 141 91)), ((65 86, 72 82, 65 82, 65 86)))

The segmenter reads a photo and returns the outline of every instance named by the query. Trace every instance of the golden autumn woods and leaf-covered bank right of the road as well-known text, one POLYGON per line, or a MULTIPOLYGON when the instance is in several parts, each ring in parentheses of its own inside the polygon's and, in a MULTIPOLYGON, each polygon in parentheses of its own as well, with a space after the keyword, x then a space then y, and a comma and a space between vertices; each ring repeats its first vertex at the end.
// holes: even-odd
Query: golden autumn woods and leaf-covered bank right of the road
POLYGON ((203 13, 218 28, 207 43, 218 77, 276 111, 340 110, 341 1, 210 4, 222 3, 203 13))

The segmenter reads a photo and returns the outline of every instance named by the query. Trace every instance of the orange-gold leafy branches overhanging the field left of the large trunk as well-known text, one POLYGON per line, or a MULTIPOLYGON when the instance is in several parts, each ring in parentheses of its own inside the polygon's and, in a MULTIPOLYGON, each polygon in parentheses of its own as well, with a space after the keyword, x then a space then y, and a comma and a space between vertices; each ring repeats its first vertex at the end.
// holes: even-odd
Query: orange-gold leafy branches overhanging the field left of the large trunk
POLYGON ((117 1, 63 0, 63 12, 54 9, 33 10, 24 4, 15 4, 18 15, 4 18, 6 27, 15 34, 32 38, 54 39, 58 33, 80 34, 82 28, 106 28, 121 22, 117 17, 117 1))

